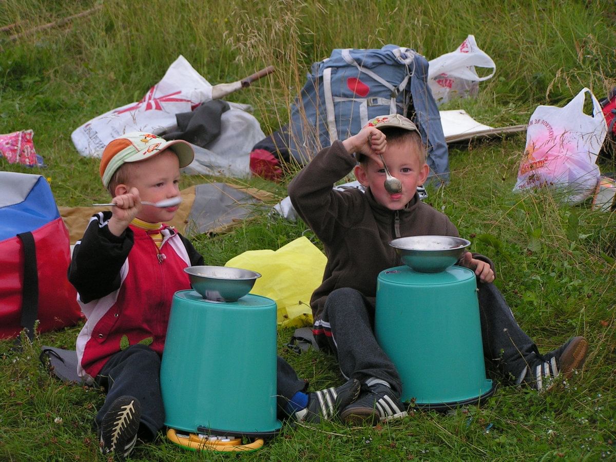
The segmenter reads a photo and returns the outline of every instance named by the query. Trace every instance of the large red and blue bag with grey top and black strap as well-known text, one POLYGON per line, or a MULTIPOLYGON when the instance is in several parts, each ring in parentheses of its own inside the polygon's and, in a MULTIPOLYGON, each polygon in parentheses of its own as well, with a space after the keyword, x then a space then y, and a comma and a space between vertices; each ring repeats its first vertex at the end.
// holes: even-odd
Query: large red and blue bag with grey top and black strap
POLYGON ((0 338, 34 336, 82 318, 68 282, 68 229, 46 179, 0 172, 0 338))

